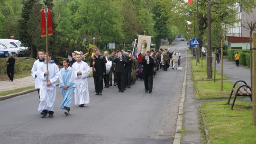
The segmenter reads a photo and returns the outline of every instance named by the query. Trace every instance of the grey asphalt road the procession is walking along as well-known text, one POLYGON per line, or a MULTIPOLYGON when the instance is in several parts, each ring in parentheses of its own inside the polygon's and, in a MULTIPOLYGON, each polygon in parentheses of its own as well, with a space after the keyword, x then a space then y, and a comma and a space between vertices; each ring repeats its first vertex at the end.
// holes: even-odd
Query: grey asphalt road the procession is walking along
MULTIPOLYGON (((171 49, 185 50, 186 46, 177 41, 171 49)), ((37 92, 0 101, 0 143, 171 144, 183 74, 183 69, 159 72, 151 94, 144 92, 143 81, 137 81, 124 93, 110 87, 102 96, 95 96, 93 79, 89 78, 90 104, 73 106, 68 117, 59 108, 60 90, 53 118, 40 118, 37 92)))

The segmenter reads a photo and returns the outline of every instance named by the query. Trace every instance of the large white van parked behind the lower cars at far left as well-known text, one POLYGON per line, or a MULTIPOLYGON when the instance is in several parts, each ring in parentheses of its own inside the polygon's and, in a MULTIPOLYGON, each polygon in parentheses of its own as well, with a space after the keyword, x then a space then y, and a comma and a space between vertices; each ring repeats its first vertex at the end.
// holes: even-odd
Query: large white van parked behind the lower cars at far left
POLYGON ((0 39, 0 43, 2 44, 10 44, 14 45, 14 48, 16 48, 17 55, 25 55, 27 47, 24 47, 19 40, 15 39, 0 39))

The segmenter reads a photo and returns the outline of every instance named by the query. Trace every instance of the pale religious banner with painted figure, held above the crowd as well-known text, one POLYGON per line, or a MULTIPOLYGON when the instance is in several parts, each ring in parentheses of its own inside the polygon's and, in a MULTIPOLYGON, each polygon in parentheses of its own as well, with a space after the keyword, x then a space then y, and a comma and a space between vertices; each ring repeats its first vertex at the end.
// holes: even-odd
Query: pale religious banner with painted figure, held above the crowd
POLYGON ((150 51, 151 36, 138 35, 137 54, 145 54, 146 51, 150 51))

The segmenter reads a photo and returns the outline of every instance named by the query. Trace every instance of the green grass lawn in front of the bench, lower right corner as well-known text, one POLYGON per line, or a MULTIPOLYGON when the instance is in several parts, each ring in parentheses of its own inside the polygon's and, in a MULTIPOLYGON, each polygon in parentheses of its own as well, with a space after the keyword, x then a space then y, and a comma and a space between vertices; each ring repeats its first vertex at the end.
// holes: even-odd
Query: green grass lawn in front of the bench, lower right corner
POLYGON ((251 102, 236 101, 234 110, 227 101, 205 102, 201 106, 211 144, 256 144, 251 102))

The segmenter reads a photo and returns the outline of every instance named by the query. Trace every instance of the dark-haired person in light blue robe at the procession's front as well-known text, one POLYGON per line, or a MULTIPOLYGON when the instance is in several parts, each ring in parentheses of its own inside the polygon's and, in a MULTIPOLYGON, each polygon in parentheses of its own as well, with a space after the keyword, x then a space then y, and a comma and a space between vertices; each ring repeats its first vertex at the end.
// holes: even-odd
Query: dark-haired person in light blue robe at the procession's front
POLYGON ((63 68, 60 70, 60 85, 59 88, 62 89, 63 102, 60 108, 64 109, 64 114, 67 116, 70 114, 70 107, 73 97, 73 91, 76 87, 75 84, 75 73, 73 68, 70 66, 69 59, 64 59, 63 68))

